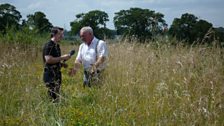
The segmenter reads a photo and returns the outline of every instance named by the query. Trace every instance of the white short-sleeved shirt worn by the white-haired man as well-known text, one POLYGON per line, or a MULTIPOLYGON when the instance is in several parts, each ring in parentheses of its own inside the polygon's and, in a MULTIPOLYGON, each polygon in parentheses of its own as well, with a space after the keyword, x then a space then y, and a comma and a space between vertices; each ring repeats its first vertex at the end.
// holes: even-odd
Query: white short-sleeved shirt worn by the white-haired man
MULTIPOLYGON (((108 49, 107 45, 103 40, 99 40, 96 37, 93 38, 91 44, 88 46, 86 43, 82 43, 79 46, 79 51, 76 57, 76 60, 80 61, 84 69, 91 68, 91 64, 96 62, 96 55, 97 57, 107 57, 108 56, 108 49), (97 45, 98 42, 98 45, 97 45), (96 47, 97 46, 97 47, 96 47), (97 54, 96 54, 97 48, 97 54)), ((106 62, 100 64, 98 67, 99 70, 102 70, 106 67, 106 62)))

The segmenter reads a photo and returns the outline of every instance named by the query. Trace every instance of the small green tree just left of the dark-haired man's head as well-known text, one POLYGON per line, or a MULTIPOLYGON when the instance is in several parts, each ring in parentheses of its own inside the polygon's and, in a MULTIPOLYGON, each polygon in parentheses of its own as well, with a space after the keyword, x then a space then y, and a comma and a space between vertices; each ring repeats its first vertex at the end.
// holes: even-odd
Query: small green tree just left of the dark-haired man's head
POLYGON ((35 12, 33 15, 28 15, 27 22, 25 23, 25 25, 40 34, 49 32, 50 29, 53 27, 49 20, 46 18, 46 15, 40 11, 35 12))

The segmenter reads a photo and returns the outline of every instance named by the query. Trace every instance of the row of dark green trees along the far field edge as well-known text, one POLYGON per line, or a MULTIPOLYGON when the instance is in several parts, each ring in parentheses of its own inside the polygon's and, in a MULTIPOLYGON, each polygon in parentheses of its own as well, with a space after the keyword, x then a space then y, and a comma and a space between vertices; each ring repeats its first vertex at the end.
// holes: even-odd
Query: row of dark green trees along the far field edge
MULTIPOLYGON (((5 34, 7 29, 27 29, 36 34, 46 34, 53 27, 46 15, 37 11, 27 15, 27 20, 16 7, 11 4, 0 4, 0 32, 5 34)), ((91 26, 99 38, 114 38, 119 35, 139 42, 155 40, 158 36, 171 36, 178 40, 192 44, 210 43, 214 40, 224 42, 224 28, 214 28, 212 23, 199 19, 193 14, 185 13, 180 18, 175 18, 168 28, 164 14, 150 9, 130 8, 120 10, 113 18, 115 30, 107 28, 109 16, 106 12, 92 10, 87 13, 75 15, 75 20, 70 22, 69 35, 78 35, 83 26, 91 26)))

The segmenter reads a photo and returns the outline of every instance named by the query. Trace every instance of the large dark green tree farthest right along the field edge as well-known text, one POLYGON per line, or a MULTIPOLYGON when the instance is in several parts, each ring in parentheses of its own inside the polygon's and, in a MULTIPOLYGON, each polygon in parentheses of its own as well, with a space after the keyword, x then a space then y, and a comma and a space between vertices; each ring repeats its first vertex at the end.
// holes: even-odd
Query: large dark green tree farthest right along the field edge
POLYGON ((198 20, 198 17, 193 14, 185 13, 181 18, 174 19, 169 33, 177 39, 191 44, 194 41, 201 41, 211 27, 211 23, 198 20))

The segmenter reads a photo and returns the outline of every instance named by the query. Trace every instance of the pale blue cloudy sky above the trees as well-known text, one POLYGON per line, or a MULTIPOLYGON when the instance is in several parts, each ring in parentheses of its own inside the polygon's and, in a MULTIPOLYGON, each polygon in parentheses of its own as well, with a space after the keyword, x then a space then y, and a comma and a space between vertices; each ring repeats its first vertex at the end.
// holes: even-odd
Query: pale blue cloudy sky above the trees
POLYGON ((9 3, 21 13, 22 19, 36 11, 43 12, 54 25, 70 30, 70 22, 80 13, 101 10, 108 14, 107 27, 114 29, 114 13, 132 7, 150 9, 164 14, 170 26, 174 18, 184 13, 194 14, 206 20, 214 27, 224 27, 224 0, 0 0, 0 4, 9 3))

